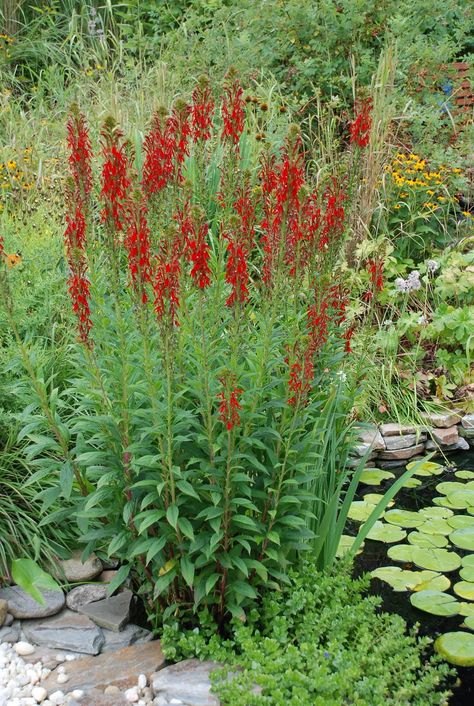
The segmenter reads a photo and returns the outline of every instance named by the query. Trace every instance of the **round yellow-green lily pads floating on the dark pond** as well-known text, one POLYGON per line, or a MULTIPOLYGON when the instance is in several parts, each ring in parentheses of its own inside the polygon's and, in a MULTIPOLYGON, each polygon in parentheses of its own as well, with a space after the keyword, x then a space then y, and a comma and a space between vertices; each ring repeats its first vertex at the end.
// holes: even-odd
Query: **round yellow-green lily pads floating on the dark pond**
MULTIPOLYGON (((407 468, 425 478, 444 471, 431 461, 407 468)), ((361 482, 375 485, 378 479, 380 484, 393 477, 386 473, 369 469, 361 482)), ((436 485, 436 493, 432 505, 416 511, 392 507, 374 524, 367 539, 390 545, 387 557, 394 565, 371 573, 394 591, 409 591, 412 606, 420 611, 460 616, 462 629, 438 637, 435 649, 452 664, 474 666, 474 472, 456 471, 436 485)), ((378 493, 364 495, 352 504, 349 517, 364 522, 381 498, 378 493)))

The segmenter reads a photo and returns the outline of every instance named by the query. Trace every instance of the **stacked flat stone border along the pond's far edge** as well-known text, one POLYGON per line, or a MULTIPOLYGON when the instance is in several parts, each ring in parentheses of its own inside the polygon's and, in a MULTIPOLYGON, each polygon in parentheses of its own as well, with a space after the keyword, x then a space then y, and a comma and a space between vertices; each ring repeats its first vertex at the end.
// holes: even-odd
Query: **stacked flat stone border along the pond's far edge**
POLYGON ((362 458, 368 453, 368 467, 396 468, 425 452, 440 455, 474 448, 474 414, 426 412, 421 416, 426 425, 390 422, 364 426, 357 435, 359 443, 353 456, 362 458))

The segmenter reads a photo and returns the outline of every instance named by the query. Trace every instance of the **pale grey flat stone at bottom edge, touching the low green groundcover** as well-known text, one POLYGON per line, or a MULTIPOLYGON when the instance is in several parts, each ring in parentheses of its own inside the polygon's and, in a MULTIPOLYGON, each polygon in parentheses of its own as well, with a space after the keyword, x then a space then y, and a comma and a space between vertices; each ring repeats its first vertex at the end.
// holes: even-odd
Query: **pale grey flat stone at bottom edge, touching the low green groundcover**
POLYGON ((153 693, 164 696, 168 703, 172 703, 171 699, 177 699, 187 706, 218 706, 217 697, 211 694, 209 674, 219 666, 216 662, 200 662, 197 659, 172 664, 151 675, 153 693))

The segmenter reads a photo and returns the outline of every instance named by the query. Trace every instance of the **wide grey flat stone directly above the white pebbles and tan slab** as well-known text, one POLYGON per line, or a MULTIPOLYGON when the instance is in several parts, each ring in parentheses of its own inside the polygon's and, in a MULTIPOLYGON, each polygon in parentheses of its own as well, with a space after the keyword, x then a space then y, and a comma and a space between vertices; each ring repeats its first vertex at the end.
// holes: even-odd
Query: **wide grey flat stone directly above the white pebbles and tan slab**
POLYGON ((37 645, 96 655, 105 642, 102 630, 89 618, 67 608, 49 620, 23 623, 25 636, 37 645))

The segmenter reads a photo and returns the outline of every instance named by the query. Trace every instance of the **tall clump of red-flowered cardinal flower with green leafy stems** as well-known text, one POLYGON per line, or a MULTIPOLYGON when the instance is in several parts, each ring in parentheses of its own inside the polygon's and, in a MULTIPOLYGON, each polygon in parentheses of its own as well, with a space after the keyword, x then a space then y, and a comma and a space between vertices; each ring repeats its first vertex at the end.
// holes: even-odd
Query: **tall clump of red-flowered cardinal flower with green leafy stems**
POLYGON ((113 588, 130 576, 160 619, 243 619, 344 526, 347 176, 311 183, 298 129, 262 142, 246 111, 230 72, 135 152, 108 119, 96 162, 77 107, 67 125, 76 375, 24 436, 58 473, 45 507, 68 503, 49 521, 72 505, 85 554, 117 557, 113 588))

